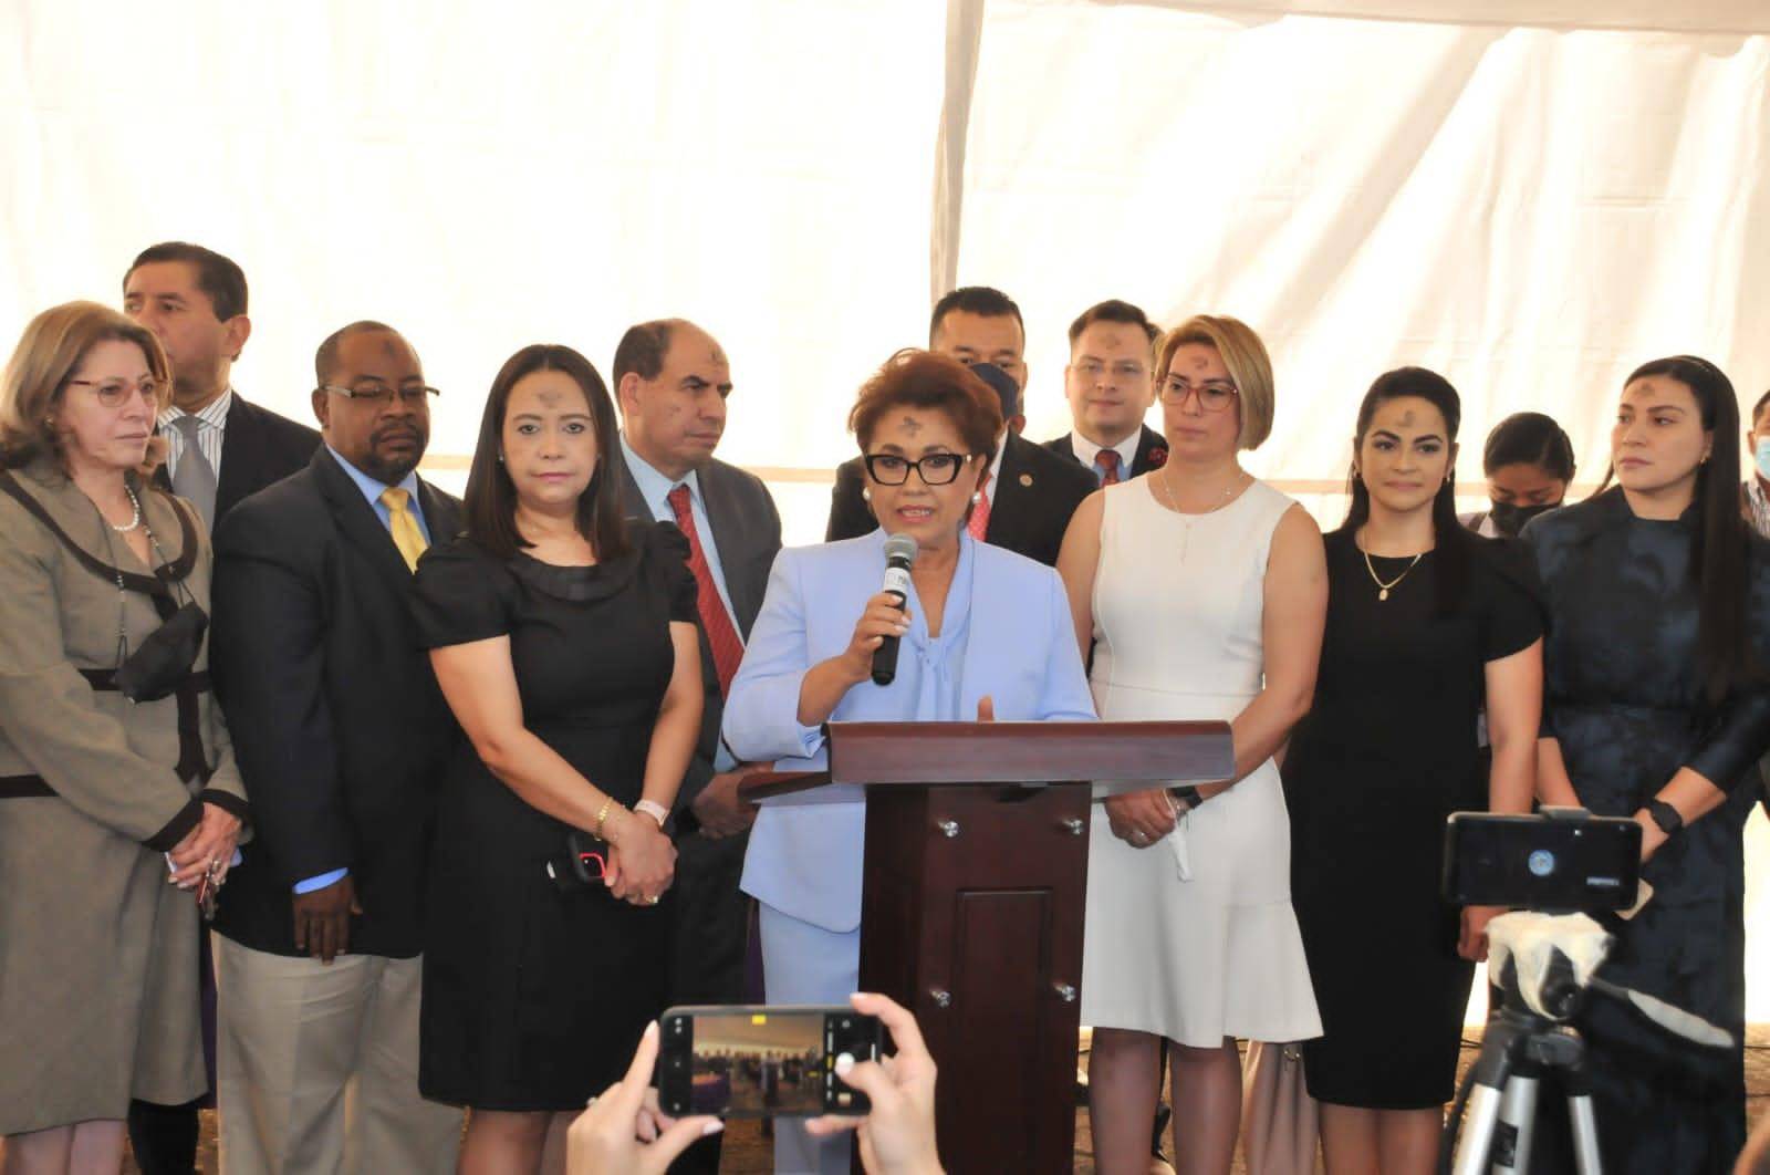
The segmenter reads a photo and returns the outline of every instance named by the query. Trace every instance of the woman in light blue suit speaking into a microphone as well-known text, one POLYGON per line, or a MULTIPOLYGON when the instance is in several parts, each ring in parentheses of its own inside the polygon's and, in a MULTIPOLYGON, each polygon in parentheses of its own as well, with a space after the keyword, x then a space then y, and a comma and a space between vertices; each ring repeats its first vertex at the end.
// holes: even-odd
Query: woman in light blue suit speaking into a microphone
MULTIPOLYGON (((892 356, 862 388, 848 426, 880 529, 782 550, 726 703, 724 738, 743 761, 818 768, 827 720, 1092 720, 1069 602, 1057 572, 974 538, 1002 409, 982 379, 924 350, 892 356), (903 609, 880 589, 885 541, 915 540, 903 609), (896 676, 874 653, 899 641, 896 676)), ((765 807, 743 890, 761 904, 772 1003, 841 1003, 860 973, 866 803, 765 807)), ((775 1125, 777 1171, 846 1171, 848 1141, 818 1145, 775 1125)))

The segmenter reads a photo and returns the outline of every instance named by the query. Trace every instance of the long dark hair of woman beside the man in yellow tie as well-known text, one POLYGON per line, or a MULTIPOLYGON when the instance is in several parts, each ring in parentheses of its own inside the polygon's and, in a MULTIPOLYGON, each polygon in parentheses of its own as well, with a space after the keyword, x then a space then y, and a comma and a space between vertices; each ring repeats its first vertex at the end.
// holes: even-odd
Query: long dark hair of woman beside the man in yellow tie
POLYGON ((589 359, 558 343, 524 347, 504 361, 497 379, 492 380, 492 391, 485 396, 485 414, 480 418, 480 442, 473 449, 473 469, 467 472, 467 497, 462 501, 467 538, 499 559, 510 559, 531 545, 517 531, 517 487, 497 455, 504 448, 510 389, 535 372, 570 375, 589 402, 589 419, 596 432, 596 472, 577 499, 577 533, 589 540, 596 559, 623 556, 628 543, 621 517, 621 481, 614 472, 621 442, 614 432, 614 402, 609 400, 609 386, 602 382, 589 359))

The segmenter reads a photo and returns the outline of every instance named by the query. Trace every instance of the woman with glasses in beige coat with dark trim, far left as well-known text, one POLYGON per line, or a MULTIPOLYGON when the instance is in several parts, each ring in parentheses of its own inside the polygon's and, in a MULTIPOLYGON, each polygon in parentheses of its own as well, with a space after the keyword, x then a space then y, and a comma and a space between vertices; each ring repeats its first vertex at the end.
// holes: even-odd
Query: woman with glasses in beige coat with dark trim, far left
POLYGON ((142 476, 168 375, 149 331, 71 303, 0 377, 7 1175, 115 1171, 131 1095, 205 1085, 198 895, 225 879, 246 802, 204 642, 136 657, 181 605, 209 605, 209 540, 142 476))

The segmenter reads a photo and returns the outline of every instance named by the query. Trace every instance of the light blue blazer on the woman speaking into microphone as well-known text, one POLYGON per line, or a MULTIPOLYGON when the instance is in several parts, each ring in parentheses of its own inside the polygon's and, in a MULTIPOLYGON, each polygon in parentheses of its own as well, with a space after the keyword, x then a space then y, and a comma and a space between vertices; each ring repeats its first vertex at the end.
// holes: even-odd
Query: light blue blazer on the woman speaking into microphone
MULTIPOLYGON (((883 529, 775 557, 726 701, 724 738, 740 759, 825 766, 823 734, 798 724, 800 681, 848 648, 883 573, 883 529)), ((984 695, 1002 722, 1094 720, 1069 600, 1051 568, 961 534, 940 639, 929 639, 913 588, 908 609, 897 680, 855 685, 832 720, 970 722, 984 695)), ((864 846, 864 800, 763 805, 743 858, 743 892, 827 931, 853 931, 864 846)))

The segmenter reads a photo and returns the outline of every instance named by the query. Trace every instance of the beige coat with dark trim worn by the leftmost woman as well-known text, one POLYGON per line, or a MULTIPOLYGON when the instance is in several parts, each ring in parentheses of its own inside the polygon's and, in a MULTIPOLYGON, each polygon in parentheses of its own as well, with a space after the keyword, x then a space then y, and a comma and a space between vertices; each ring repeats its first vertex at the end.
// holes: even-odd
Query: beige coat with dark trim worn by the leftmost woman
MULTIPOLYGON (((12 478, 81 549, 149 568, 53 465, 12 478)), ((166 559, 184 556, 177 510, 142 494, 166 559)), ((184 584, 209 609, 209 538, 184 584)), ((207 784, 181 780, 177 699, 133 704, 81 669, 117 667, 161 619, 147 595, 81 564, 0 494, 0 1134, 122 1118, 129 1097, 184 1102, 205 1088, 198 1028, 198 915, 166 883, 170 848, 195 826, 200 789, 244 810, 214 695, 196 699, 207 784), (53 795, 28 795, 37 787, 53 795), (27 795, 19 795, 19 793, 27 795)), ((196 669, 207 669, 207 641, 196 669)), ((225 901, 225 892, 223 892, 225 901)))

